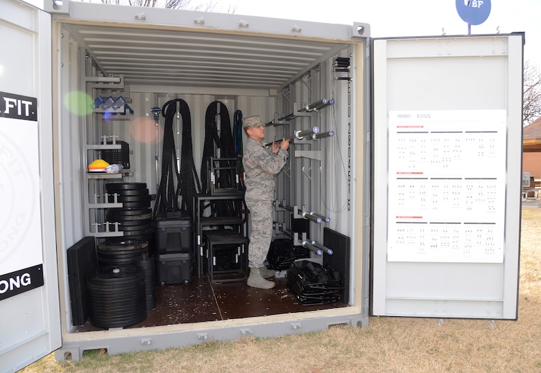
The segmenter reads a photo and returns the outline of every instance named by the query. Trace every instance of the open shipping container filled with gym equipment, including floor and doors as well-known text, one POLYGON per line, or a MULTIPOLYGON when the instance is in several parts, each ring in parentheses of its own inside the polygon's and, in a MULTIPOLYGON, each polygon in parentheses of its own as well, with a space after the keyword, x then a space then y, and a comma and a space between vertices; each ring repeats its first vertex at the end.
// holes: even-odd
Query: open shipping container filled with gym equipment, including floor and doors
POLYGON ((524 33, 375 39, 370 20, 0 4, 2 372, 370 316, 516 320, 524 33), (242 239, 205 235, 246 238, 253 115, 264 141, 293 139, 273 212, 291 256, 272 290, 246 286, 242 239), (157 213, 171 196, 180 211, 157 213), (119 239, 129 254, 111 258, 119 239), (128 312, 139 250, 155 293, 128 312), (334 277, 295 295, 287 274, 312 267, 334 277))

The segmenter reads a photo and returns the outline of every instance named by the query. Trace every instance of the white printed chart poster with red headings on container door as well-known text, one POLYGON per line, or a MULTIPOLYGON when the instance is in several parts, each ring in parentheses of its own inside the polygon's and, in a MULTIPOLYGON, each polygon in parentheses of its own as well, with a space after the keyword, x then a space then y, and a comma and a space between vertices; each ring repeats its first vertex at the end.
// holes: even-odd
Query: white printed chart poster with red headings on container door
POLYGON ((503 262, 506 117, 389 112, 388 261, 503 262))

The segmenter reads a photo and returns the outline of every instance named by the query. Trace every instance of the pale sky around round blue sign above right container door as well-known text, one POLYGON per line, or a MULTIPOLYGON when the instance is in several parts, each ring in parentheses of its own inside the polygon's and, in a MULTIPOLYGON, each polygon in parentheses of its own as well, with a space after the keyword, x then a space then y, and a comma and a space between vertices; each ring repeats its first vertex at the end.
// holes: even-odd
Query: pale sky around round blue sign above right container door
MULTIPOLYGON (((487 1, 487 0, 485 0, 487 1)), ((227 3, 221 0, 220 3, 227 3)), ((370 24, 370 37, 467 35, 455 0, 231 0, 237 15, 329 24, 370 24)), ((541 69, 541 0, 491 0, 488 19, 471 35, 524 31, 524 58, 541 69)))

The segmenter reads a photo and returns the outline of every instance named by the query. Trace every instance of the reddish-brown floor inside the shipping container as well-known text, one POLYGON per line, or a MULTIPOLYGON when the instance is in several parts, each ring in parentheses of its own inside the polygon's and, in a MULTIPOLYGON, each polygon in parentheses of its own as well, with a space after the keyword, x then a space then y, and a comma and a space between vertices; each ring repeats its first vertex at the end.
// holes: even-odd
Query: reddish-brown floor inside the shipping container
MULTIPOLYGON (((189 284, 157 286, 156 308, 135 327, 154 327, 191 322, 228 320, 346 307, 343 302, 302 306, 287 289, 285 278, 275 279, 270 290, 254 289, 246 281, 212 284, 207 275, 189 284)), ((103 330, 89 320, 76 331, 103 330)))

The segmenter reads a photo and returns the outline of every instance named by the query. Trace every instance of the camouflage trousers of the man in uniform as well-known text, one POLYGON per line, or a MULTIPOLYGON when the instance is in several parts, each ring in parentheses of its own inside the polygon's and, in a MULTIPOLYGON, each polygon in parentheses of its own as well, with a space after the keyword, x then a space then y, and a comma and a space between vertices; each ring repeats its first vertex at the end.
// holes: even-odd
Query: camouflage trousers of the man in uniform
POLYGON ((248 218, 248 266, 259 268, 267 259, 273 239, 273 201, 245 199, 250 211, 248 218))

